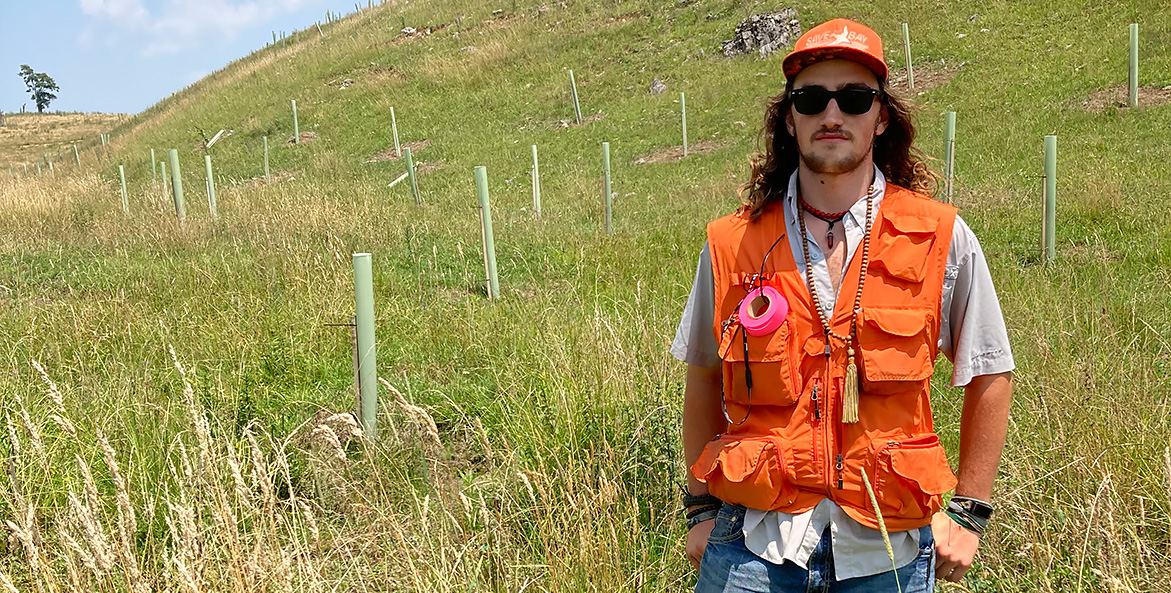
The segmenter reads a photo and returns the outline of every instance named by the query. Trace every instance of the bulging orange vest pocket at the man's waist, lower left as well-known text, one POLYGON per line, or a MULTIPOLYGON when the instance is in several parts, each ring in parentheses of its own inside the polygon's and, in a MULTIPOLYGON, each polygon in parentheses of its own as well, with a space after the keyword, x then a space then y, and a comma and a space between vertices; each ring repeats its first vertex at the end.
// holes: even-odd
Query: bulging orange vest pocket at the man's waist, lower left
POLYGON ((793 468, 779 439, 768 436, 723 436, 707 443, 691 466, 696 479, 725 503, 768 511, 796 498, 793 468))

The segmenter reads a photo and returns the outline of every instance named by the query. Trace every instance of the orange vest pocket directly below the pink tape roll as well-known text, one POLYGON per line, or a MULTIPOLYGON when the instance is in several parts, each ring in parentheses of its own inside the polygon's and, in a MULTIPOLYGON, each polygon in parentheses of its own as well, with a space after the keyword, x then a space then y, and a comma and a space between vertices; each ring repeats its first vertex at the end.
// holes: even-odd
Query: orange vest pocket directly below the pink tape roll
POLYGON ((747 366, 745 364, 744 326, 730 323, 720 339, 720 359, 724 360, 724 396, 739 404, 748 404, 748 383, 745 368, 752 372, 752 404, 792 405, 796 403, 800 384, 795 359, 796 336, 793 321, 786 319, 781 327, 768 335, 748 335, 747 366))

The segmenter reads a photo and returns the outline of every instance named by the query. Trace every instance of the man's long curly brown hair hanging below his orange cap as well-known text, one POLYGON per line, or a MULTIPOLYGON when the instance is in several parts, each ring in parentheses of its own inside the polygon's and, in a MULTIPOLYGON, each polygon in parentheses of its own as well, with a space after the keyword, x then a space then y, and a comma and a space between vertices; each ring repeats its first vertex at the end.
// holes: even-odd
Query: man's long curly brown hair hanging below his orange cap
MULTIPOLYGON (((889 183, 920 193, 933 193, 940 177, 927 166, 923 151, 915 146, 911 111, 902 98, 884 87, 884 83, 878 84, 878 97, 886 107, 889 122, 883 134, 875 137, 874 162, 889 183)), ((749 157, 752 173, 737 191, 741 211, 748 213, 749 220, 760 218, 766 207, 785 196, 789 177, 801 158, 797 141, 785 125, 785 114, 793 104, 792 90, 793 82, 789 81, 780 95, 769 100, 759 137, 765 151, 749 157)))

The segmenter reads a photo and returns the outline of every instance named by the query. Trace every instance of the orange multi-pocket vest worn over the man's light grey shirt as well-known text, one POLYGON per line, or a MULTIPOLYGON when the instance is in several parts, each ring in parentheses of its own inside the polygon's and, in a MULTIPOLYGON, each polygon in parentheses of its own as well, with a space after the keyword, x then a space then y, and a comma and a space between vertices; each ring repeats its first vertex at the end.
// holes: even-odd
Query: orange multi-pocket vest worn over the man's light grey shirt
MULTIPOLYGON (((738 212, 707 226, 723 395, 733 422, 747 415, 742 424, 730 424, 726 434, 713 438, 691 466, 712 495, 749 509, 788 513, 830 498, 858 523, 877 529, 862 483, 865 468, 886 529, 905 531, 931 522, 943 505, 940 495, 956 486, 932 428, 930 402, 954 221, 954 207, 886 185, 870 232, 870 265, 857 319, 857 423, 840 420, 847 347, 830 338, 826 355, 826 333, 783 238, 785 209, 774 204, 755 221, 738 212), (749 394, 745 332, 734 313, 748 289, 760 284, 780 291, 789 313, 772 334, 748 336, 749 394)), ((861 265, 858 250, 842 277, 833 316, 827 318, 838 335, 850 335, 861 265)))

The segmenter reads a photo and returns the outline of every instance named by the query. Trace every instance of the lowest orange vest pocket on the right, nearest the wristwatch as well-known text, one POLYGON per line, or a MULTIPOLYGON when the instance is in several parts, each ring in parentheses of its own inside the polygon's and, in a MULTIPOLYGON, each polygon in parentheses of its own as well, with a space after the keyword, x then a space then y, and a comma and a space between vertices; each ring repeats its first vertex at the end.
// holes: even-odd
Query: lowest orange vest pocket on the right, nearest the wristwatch
POLYGON ((943 507, 940 495, 956 488, 939 437, 876 439, 875 496, 883 516, 922 519, 943 507))

